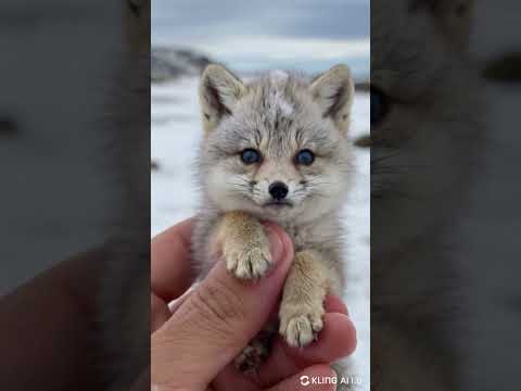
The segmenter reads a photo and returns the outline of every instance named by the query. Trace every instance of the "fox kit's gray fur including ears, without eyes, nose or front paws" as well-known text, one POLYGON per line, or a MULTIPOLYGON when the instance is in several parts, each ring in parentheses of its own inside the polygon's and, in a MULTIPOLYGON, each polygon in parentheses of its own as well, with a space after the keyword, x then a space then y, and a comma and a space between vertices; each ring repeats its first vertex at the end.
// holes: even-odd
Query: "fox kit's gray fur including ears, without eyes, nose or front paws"
MULTIPOLYGON (((334 270, 330 291, 344 287, 343 232, 339 212, 351 177, 347 123, 353 101, 348 68, 340 65, 309 79, 272 71, 244 84, 225 68, 209 65, 200 87, 205 137, 198 157, 201 209, 192 234, 195 274, 204 277, 217 262, 212 236, 226 212, 246 212, 278 223, 291 237, 295 253, 318 251, 334 270), (262 153, 246 165, 245 149, 262 153), (309 166, 295 163, 304 149, 316 156, 309 166), (274 209, 268 188, 283 181, 291 206, 274 209)), ((277 325, 265 325, 265 328, 277 325)), ((272 333, 270 333, 272 336, 272 333)), ((269 341, 255 338, 236 360, 250 370, 269 354, 269 341), (264 357, 264 358, 263 358, 264 357)))

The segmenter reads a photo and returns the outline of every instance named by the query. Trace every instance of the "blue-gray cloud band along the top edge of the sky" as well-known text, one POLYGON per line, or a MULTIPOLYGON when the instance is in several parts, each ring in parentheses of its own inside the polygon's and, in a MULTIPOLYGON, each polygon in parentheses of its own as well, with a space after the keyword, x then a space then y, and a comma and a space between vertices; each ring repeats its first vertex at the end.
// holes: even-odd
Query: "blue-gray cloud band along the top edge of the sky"
POLYGON ((154 0, 152 33, 183 40, 224 35, 360 38, 369 36, 369 0, 154 0))

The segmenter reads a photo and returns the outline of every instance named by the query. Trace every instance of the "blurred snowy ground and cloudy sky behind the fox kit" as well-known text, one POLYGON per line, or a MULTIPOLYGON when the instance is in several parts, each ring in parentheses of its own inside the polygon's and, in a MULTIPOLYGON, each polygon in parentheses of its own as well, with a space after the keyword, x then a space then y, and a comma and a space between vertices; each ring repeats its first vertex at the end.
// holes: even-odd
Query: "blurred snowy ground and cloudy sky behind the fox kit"
MULTIPOLYGON (((242 77, 264 70, 352 68, 350 142, 369 133, 369 0, 154 0, 151 58, 152 236, 196 212, 192 164, 202 136, 196 88, 211 62, 242 77)), ((358 335, 350 358, 356 389, 369 390, 369 151, 355 148, 354 186, 344 211, 347 289, 358 335)))

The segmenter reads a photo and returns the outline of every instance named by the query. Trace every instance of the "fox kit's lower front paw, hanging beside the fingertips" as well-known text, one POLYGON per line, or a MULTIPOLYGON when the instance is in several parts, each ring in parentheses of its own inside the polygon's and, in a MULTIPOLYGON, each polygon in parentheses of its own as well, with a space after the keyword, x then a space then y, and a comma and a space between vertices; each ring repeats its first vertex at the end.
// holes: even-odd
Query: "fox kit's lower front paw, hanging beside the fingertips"
POLYGON ((321 305, 292 310, 282 306, 279 332, 290 346, 303 348, 317 339, 323 327, 322 315, 321 305))

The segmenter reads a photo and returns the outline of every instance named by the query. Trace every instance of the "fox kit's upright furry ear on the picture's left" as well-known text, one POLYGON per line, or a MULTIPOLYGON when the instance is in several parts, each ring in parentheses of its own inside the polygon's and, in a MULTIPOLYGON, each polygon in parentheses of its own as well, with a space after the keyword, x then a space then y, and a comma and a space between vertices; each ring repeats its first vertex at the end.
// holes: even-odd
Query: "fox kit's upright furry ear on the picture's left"
POLYGON ((243 83, 224 66, 215 64, 206 66, 199 87, 199 100, 206 131, 215 128, 225 115, 231 115, 244 89, 243 83))

